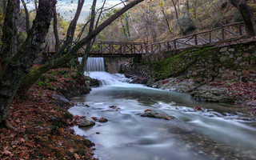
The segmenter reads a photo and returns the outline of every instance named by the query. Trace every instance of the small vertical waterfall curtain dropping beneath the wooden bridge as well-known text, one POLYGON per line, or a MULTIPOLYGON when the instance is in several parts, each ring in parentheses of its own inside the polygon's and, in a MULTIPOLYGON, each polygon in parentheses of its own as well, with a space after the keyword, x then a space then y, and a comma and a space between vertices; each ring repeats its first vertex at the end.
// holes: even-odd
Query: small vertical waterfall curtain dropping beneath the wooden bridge
POLYGON ((86 71, 104 72, 104 58, 88 58, 86 62, 86 71))

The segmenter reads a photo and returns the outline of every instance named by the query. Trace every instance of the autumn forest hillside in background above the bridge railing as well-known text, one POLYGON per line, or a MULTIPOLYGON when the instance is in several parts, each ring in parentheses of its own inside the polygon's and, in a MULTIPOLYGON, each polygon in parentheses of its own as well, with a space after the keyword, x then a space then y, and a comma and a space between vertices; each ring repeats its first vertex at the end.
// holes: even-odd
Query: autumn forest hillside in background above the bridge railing
MULTIPOLYGON (((75 1, 70 1, 70 3, 75 1)), ((30 1, 26 4, 32 3, 30 1)), ((127 2, 123 2, 126 4, 127 2)), ((256 17, 256 2, 247 1, 256 17)), ((102 3, 101 3, 102 4, 102 3)), ((123 5, 121 2, 121 5, 123 5)), ((98 6, 99 7, 99 6, 98 6)), ((104 7, 104 6, 103 6, 104 7)), ((95 18, 99 23, 120 10, 118 6, 112 8, 101 8, 96 10, 95 18)), ((1 24, 4 21, 3 6, 1 6, 1 24)), ((75 12, 67 10, 67 12, 75 12)), ((35 18, 35 10, 30 10, 30 26, 35 18)), ((58 34, 60 40, 64 41, 70 21, 58 13, 58 34)), ((78 23, 74 33, 74 40, 84 38, 88 34, 90 14, 86 18, 87 25, 78 23), (84 30, 83 32, 81 32, 84 30)), ((162 42, 182 35, 193 34, 200 31, 212 30, 222 25, 233 22, 242 22, 242 16, 234 6, 226 0, 148 0, 122 14, 116 21, 107 26, 98 34, 97 42, 162 42)), ((54 24, 54 22, 53 22, 54 24)), ((50 26, 46 36, 46 42, 55 43, 54 25, 50 26)), ((18 18, 19 41, 26 39, 26 10, 21 9, 18 18)), ((1 30, 2 36, 2 30, 1 30)), ((53 47, 53 46, 52 46, 53 47)))

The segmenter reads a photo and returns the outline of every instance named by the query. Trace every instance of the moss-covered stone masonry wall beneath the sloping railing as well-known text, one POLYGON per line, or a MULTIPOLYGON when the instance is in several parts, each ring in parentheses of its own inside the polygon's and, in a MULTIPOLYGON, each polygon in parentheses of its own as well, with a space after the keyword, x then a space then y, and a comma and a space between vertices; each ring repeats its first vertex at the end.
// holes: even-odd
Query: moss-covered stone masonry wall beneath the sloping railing
POLYGON ((154 79, 182 76, 204 78, 209 81, 220 79, 256 82, 255 41, 230 46, 179 50, 176 53, 172 51, 166 55, 172 56, 159 61, 159 56, 154 59, 150 55, 151 58, 142 59, 142 63, 122 65, 122 72, 154 79))

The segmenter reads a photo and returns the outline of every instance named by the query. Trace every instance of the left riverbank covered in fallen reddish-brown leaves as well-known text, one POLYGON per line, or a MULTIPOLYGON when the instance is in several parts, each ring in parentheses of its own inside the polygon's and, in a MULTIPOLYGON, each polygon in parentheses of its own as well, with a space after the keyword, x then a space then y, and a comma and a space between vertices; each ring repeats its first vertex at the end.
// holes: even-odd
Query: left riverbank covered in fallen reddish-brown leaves
POLYGON ((26 97, 15 96, 10 106, 10 124, 16 130, 0 129, 0 159, 94 159, 93 142, 74 134, 78 125, 67 109, 76 94, 88 94, 97 81, 75 78, 75 71, 48 71, 26 97))

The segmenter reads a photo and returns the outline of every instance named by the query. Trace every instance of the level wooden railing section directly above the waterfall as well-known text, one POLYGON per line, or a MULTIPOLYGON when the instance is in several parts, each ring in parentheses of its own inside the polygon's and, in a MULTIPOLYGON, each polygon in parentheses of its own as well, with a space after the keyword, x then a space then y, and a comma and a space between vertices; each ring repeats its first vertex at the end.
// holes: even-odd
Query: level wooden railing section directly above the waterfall
POLYGON ((95 42, 90 54, 142 54, 142 42, 95 42))

